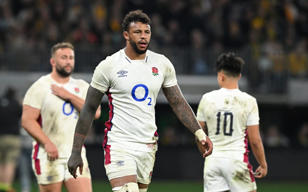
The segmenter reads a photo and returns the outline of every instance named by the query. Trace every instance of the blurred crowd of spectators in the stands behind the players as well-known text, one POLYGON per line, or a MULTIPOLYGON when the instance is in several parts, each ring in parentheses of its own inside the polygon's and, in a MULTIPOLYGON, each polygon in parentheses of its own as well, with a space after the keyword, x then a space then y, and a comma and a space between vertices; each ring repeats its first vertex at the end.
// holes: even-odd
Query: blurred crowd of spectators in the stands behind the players
POLYGON ((180 74, 212 74, 213 58, 233 50, 249 64, 251 85, 265 92, 308 76, 306 0, 0 0, 0 9, 0 57, 69 41, 84 57, 98 52, 99 62, 125 46, 124 15, 142 9, 152 20, 150 49, 180 74))

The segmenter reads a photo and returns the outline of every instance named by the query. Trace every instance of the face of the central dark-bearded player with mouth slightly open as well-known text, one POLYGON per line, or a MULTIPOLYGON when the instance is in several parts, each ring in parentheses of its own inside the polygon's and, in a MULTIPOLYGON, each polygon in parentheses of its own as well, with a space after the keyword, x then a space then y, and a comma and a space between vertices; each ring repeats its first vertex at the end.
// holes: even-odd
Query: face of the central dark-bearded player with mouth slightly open
POLYGON ((132 22, 128 29, 128 41, 132 49, 142 55, 148 50, 151 39, 150 25, 142 22, 132 22))

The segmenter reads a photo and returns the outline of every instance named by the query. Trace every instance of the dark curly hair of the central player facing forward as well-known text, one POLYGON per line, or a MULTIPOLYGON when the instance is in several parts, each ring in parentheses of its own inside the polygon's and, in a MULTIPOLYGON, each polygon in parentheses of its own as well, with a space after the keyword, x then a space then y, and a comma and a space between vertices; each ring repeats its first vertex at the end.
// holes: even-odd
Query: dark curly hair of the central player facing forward
POLYGON ((130 11, 128 14, 125 15, 123 22, 122 22, 122 30, 128 31, 128 26, 131 22, 142 22, 148 25, 151 25, 151 19, 148 17, 147 14, 143 13, 142 10, 134 10, 130 11))

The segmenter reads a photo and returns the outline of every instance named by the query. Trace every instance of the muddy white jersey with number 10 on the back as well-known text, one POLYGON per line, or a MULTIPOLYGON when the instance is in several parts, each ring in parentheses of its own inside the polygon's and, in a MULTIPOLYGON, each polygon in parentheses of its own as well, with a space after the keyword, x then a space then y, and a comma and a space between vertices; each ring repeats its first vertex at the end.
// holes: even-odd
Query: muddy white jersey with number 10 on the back
POLYGON ((246 126, 259 124, 257 101, 239 89, 221 88, 202 96, 197 119, 206 122, 213 142, 209 158, 229 157, 242 161, 243 155, 249 152, 246 126))

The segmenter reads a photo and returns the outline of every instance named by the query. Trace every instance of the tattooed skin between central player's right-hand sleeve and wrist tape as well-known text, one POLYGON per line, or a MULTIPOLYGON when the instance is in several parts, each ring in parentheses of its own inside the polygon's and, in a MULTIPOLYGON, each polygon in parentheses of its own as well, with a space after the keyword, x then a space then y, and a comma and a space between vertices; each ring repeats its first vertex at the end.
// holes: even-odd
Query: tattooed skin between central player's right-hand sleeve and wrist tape
POLYGON ((175 85, 172 87, 162 88, 162 90, 172 110, 183 125, 192 133, 195 133, 198 129, 200 129, 201 127, 197 121, 195 113, 184 99, 179 86, 175 85))

